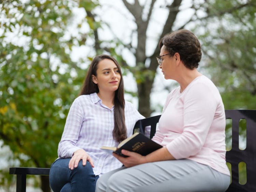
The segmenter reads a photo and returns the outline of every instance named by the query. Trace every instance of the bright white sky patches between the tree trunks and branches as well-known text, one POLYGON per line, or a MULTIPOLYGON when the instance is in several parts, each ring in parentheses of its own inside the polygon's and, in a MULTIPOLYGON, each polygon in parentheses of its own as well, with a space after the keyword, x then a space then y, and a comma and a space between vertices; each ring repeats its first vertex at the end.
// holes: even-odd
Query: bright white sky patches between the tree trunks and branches
MULTIPOLYGON (((101 40, 111 40, 113 38, 122 39, 123 42, 129 43, 132 30, 136 30, 137 26, 134 23, 133 16, 129 13, 129 11, 124 6, 122 0, 99 0, 100 4, 104 5, 101 9, 97 9, 96 13, 100 16, 98 19, 103 20, 104 22, 108 23, 111 29, 103 25, 103 29, 99 31, 99 38, 101 40), (113 36, 113 33, 115 36, 113 36)), ((128 2, 134 2, 129 0, 128 2)), ((141 0, 140 3, 144 4, 147 3, 147 7, 149 8, 149 4, 151 1, 141 0)), ((158 0, 156 1, 154 12, 153 12, 153 19, 151 19, 150 24, 147 30, 147 42, 146 42, 146 54, 150 56, 156 45, 158 44, 157 37, 161 34, 163 25, 167 19, 168 10, 163 8, 166 4, 171 4, 172 0, 158 0)), ((182 26, 194 13, 193 10, 188 9, 191 5, 191 0, 183 0, 182 5, 180 7, 181 12, 179 12, 177 16, 177 20, 175 21, 175 27, 178 29, 182 26)), ((84 18, 86 13, 83 9, 76 8, 74 10, 76 14, 76 20, 79 22, 79 19, 84 18)), ((146 15, 146 14, 145 14, 146 15)), ((97 18, 96 18, 97 19, 97 18)), ((86 32, 89 30, 88 26, 83 26, 80 30, 86 32)), ((74 30, 70 29, 71 33, 77 33, 74 30)), ((73 34, 75 35, 75 34, 73 34)), ((94 57, 95 52, 89 46, 90 44, 93 45, 93 40, 88 40, 87 46, 82 46, 79 48, 75 48, 72 52, 72 59, 74 61, 78 61, 79 58, 84 57, 85 53, 89 56, 94 57)), ((137 45, 136 36, 133 38, 132 45, 137 45)), ((119 52, 122 54, 123 58, 130 66, 135 66, 135 58, 133 54, 128 49, 122 50, 119 52)), ((157 62, 157 61, 156 61, 157 62)), ((128 74, 124 77, 125 89, 126 91, 137 92, 137 85, 136 81, 134 80, 132 74, 128 74)), ((161 70, 157 69, 157 75, 155 78, 154 86, 151 93, 151 106, 152 108, 156 108, 156 112, 152 114, 158 115, 161 114, 161 107, 156 106, 163 106, 165 99, 168 93, 171 91, 164 90, 164 87, 170 86, 173 84, 174 81, 172 80, 165 80, 161 70)), ((176 85, 175 85, 176 87, 176 85)), ((138 108, 138 99, 131 97, 129 94, 125 94, 125 99, 129 100, 133 103, 133 105, 138 108)))

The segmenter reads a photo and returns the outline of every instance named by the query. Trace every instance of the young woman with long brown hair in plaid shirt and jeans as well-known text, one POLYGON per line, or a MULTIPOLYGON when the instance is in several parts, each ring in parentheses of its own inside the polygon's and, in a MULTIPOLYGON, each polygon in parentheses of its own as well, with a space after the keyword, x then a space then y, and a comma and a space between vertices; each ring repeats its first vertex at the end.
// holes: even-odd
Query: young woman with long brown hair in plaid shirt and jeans
POLYGON ((94 192, 100 175, 123 165, 100 147, 117 146, 132 135, 134 124, 142 118, 124 100, 124 82, 117 61, 109 55, 95 57, 81 94, 67 116, 58 159, 50 169, 52 190, 94 192))

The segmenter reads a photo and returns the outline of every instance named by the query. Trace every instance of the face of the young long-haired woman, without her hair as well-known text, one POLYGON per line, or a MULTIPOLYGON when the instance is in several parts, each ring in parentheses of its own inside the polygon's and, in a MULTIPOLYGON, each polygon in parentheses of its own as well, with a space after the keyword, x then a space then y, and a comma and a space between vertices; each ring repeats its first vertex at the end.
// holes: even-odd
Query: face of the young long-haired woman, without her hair
POLYGON ((103 59, 98 63, 93 82, 98 85, 99 92, 114 92, 118 89, 121 75, 116 64, 110 59, 103 59))

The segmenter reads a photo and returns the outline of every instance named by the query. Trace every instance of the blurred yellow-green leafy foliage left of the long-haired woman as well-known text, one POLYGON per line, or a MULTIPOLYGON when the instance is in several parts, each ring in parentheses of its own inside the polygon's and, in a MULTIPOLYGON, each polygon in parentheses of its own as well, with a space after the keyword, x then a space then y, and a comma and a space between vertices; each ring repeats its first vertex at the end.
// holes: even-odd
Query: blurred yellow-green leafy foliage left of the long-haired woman
MULTIPOLYGON (((75 0, 0 4, 0 137, 20 166, 50 167, 57 158, 66 115, 86 74, 70 58, 90 33, 68 31, 78 6, 75 0)), ((5 174, 0 185, 9 179, 5 174)))

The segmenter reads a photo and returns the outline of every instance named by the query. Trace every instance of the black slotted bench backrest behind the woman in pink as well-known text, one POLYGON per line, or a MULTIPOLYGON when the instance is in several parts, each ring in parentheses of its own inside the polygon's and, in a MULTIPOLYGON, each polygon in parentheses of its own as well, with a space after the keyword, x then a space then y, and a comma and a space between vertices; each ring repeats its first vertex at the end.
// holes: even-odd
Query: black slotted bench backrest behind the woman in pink
MULTIPOLYGON (((256 110, 225 110, 226 118, 232 119, 232 148, 226 153, 226 161, 231 164, 231 184, 227 192, 256 191, 256 110), (239 121, 246 120, 246 148, 239 149, 239 121), (239 183, 238 164, 246 164, 246 183, 239 183)), ((134 130, 144 134, 145 127, 151 126, 150 138, 156 132, 156 124, 161 115, 139 120, 134 130)))

